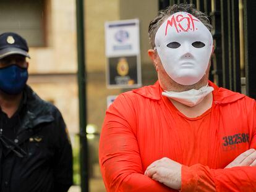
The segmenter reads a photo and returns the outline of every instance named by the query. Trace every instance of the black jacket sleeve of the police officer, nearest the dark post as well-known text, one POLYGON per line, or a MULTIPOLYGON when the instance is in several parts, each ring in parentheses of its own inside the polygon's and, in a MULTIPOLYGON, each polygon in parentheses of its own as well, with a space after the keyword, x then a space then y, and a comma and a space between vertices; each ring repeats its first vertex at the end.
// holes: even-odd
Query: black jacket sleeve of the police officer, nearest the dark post
POLYGON ((67 192, 73 183, 72 148, 66 124, 59 111, 55 116, 55 129, 58 147, 54 154, 54 191, 67 192))

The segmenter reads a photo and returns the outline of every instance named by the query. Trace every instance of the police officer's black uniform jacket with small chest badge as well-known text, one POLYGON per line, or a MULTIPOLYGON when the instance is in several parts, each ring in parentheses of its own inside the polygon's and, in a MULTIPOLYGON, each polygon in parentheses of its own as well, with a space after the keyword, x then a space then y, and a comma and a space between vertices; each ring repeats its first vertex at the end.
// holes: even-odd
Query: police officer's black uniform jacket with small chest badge
POLYGON ((26 86, 17 112, 0 109, 0 191, 67 191, 72 149, 58 109, 26 86))

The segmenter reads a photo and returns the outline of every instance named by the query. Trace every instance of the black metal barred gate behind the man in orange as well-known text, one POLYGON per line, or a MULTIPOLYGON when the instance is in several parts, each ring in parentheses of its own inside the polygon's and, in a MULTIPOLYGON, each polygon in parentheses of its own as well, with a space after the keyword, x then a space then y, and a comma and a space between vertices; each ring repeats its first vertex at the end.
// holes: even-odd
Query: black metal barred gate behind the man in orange
POLYGON ((247 95, 256 98, 256 1, 160 0, 159 9, 182 2, 195 4, 210 16, 215 43, 210 80, 241 92, 241 77, 245 77, 247 95))

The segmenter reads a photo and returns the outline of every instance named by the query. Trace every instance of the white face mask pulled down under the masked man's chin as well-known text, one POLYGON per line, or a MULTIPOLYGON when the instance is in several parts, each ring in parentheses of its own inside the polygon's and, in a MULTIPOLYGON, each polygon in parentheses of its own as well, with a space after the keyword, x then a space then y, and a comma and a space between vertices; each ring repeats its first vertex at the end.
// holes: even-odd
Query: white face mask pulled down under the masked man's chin
POLYGON ((182 92, 164 91, 162 92, 162 95, 174 99, 177 102, 181 102, 186 106, 193 107, 203 101, 203 98, 205 98, 205 96, 207 96, 207 94, 211 93, 213 90, 214 89, 212 86, 206 85, 199 90, 193 89, 182 92))

